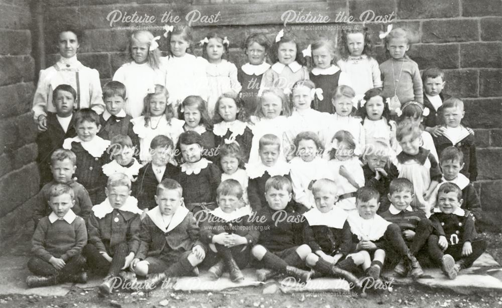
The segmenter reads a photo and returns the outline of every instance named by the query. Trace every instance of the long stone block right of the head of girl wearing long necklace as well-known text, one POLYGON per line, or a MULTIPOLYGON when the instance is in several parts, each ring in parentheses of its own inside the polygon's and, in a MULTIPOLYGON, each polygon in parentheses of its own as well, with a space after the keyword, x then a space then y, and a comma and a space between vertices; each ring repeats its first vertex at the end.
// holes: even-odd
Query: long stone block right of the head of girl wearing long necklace
POLYGON ((478 41, 476 20, 431 20, 422 24, 423 43, 478 41))

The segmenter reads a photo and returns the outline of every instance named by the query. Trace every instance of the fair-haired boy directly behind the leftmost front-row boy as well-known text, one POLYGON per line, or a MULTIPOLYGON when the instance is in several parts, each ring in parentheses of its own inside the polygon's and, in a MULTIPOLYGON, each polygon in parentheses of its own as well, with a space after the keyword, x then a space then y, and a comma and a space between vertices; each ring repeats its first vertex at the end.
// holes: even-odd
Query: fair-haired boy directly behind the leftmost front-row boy
POLYGON ((89 198, 89 194, 83 185, 77 183, 72 178, 77 168, 75 163, 75 153, 68 149, 59 148, 52 153, 51 172, 53 180, 44 185, 37 195, 37 202, 33 211, 33 221, 35 222, 35 226, 43 217, 51 214, 52 209, 49 202, 50 192, 52 186, 56 184, 66 184, 72 188, 74 193, 74 205, 72 207, 72 212, 75 213, 75 215, 82 217, 84 220, 86 220, 90 215, 92 203, 89 198))

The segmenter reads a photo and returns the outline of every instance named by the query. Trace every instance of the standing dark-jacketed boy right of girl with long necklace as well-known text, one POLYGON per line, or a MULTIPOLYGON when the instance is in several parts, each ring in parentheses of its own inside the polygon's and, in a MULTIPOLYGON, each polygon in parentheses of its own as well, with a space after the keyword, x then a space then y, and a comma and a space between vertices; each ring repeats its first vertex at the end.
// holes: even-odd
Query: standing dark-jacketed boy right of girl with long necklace
POLYGON ((441 106, 451 96, 442 93, 446 82, 443 70, 438 67, 425 69, 422 73, 422 82, 424 84, 424 107, 430 110, 424 119, 425 131, 429 132, 433 137, 437 137, 444 133, 441 106))

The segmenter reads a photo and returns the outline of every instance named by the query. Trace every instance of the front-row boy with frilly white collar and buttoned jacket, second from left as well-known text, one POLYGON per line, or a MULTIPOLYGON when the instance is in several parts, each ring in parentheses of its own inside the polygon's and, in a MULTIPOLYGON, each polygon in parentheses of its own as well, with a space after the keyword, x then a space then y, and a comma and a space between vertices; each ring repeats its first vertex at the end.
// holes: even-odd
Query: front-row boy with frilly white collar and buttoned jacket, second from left
POLYGON ((83 254, 89 268, 106 275, 99 293, 111 293, 111 286, 120 269, 128 268, 140 246, 140 215, 138 200, 131 196, 131 180, 115 173, 108 178, 106 199, 92 207, 87 221, 89 243, 83 254))

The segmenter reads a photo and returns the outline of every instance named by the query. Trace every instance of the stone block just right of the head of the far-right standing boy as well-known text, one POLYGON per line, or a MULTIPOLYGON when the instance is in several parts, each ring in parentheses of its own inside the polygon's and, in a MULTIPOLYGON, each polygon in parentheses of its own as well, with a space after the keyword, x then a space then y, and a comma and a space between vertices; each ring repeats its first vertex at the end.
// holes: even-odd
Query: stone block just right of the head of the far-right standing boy
POLYGON ((460 97, 477 97, 478 78, 477 70, 446 70, 444 92, 460 97))

